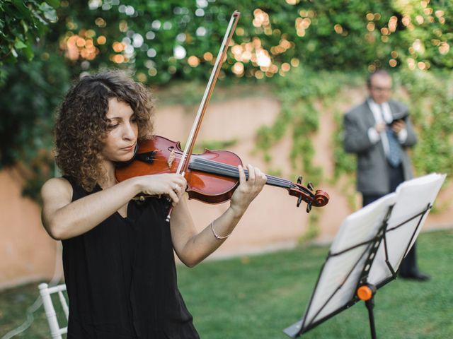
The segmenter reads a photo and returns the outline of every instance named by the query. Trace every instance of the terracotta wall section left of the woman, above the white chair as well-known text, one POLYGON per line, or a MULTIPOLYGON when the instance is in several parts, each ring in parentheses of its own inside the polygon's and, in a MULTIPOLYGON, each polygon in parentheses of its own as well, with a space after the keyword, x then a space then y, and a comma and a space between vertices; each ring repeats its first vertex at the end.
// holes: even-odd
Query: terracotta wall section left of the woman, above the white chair
POLYGON ((52 277, 59 244, 42 227, 40 207, 22 196, 15 170, 0 172, 0 187, 0 290, 52 277))

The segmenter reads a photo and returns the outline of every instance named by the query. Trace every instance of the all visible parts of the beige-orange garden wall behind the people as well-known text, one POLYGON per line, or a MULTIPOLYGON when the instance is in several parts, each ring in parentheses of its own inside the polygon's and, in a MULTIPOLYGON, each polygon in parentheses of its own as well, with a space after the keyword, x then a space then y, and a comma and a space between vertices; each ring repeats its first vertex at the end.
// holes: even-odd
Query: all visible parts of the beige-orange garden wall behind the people
MULTIPOLYGON (((360 102, 363 95, 358 91, 350 99, 340 103, 345 110, 360 102)), ((197 107, 167 106, 156 112, 156 134, 174 141, 184 141, 192 125, 197 107)), ((270 96, 248 97, 212 102, 202 124, 199 140, 229 141, 239 140, 229 150, 237 153, 244 164, 251 163, 265 170, 263 160, 253 155, 255 131, 263 124, 272 124, 280 104, 270 96)), ((333 175, 333 149, 331 145, 334 130, 332 112, 322 112, 319 134, 314 139, 316 145, 316 165, 323 168, 325 177, 333 175)), ((290 138, 284 138, 273 150, 274 167, 282 169, 282 176, 289 175, 288 154, 290 138)), ((289 178, 287 179, 294 179, 289 178)), ((309 178, 306 178, 309 179, 309 178)), ((21 196, 21 177, 13 170, 0 172, 0 289, 30 280, 50 279, 54 274, 57 258, 57 275, 61 274, 61 253, 59 243, 50 239, 40 222, 40 208, 28 198, 21 196)), ((319 213, 321 234, 318 242, 333 239, 340 222, 350 213, 351 208, 342 190, 345 183, 334 185, 314 183, 316 189, 323 189, 331 196, 331 201, 319 213)), ((424 230, 451 227, 453 189, 441 191, 437 206, 442 213, 431 214, 424 230)), ((360 197, 357 195, 357 206, 360 197)), ((190 201, 190 210, 200 229, 217 218, 229 203, 207 205, 190 201)), ((234 230, 231 237, 212 257, 225 257, 238 254, 253 254, 273 249, 281 249, 297 244, 306 231, 308 215, 304 206, 296 208, 296 198, 289 196, 285 189, 266 186, 262 194, 253 201, 246 215, 234 230)))

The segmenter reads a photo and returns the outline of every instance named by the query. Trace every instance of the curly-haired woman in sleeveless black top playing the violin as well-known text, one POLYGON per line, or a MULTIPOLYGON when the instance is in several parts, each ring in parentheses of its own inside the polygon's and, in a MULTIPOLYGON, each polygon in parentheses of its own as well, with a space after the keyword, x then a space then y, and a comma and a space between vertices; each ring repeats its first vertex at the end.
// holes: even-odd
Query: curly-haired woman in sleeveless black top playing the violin
POLYGON ((189 267, 200 263, 265 184, 258 168, 248 165, 246 179, 239 166, 229 208, 198 232, 180 174, 118 183, 115 163, 152 137, 153 109, 143 85, 113 71, 84 76, 59 107, 55 159, 64 175, 42 186, 42 223, 63 244, 68 338, 199 338, 178 291, 173 250, 189 267), (153 197, 137 203, 138 194, 153 197))

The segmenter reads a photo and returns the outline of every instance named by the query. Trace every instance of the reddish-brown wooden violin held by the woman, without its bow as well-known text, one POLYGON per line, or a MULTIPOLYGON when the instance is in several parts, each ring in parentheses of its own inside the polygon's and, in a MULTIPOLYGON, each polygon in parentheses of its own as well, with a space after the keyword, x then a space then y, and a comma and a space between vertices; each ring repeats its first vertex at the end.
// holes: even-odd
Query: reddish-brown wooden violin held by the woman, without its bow
MULTIPOLYGON (((139 144, 129 165, 115 169, 116 179, 122 182, 141 175, 176 173, 181 159, 183 150, 179 142, 154 136, 139 144)), ((228 150, 205 150, 204 153, 192 154, 184 175, 189 199, 212 204, 228 201, 239 186, 238 165, 242 165, 241 158, 228 150)), ((244 172, 248 178, 248 170, 244 169, 244 172)), ((308 187, 302 186, 302 177, 299 177, 297 184, 270 175, 266 177, 266 184, 287 189, 290 196, 297 197, 297 207, 304 201, 307 213, 312 206, 321 207, 328 203, 328 194, 321 190, 314 192, 311 182, 308 187)))

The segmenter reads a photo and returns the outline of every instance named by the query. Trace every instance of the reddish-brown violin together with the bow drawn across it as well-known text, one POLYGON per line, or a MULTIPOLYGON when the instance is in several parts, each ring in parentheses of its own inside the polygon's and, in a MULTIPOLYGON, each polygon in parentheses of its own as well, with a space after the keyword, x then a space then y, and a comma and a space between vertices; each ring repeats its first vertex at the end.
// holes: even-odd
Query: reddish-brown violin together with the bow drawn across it
MULTIPOLYGON (((193 154, 193 146, 240 15, 241 13, 234 11, 229 20, 184 151, 181 150, 179 142, 170 141, 162 136, 154 136, 148 141, 143 141, 139 144, 132 161, 115 169, 118 182, 140 175, 176 173, 185 177, 188 183, 186 191, 189 198, 205 203, 223 203, 231 198, 239 185, 237 166, 242 165, 241 159, 227 150, 205 150, 202 154, 193 154)), ((247 178, 247 169, 244 169, 244 172, 247 178)), ((296 196, 298 198, 297 206, 304 201, 307 204, 307 213, 312 206, 321 207, 328 203, 328 194, 321 190, 313 192, 313 185, 310 182, 308 187, 302 186, 302 177, 299 177, 297 184, 270 175, 266 177, 268 178, 266 184, 285 188, 289 195, 296 196)), ((144 196, 139 198, 144 199, 144 196)), ((167 222, 170 221, 172 210, 173 206, 168 210, 167 222)))

